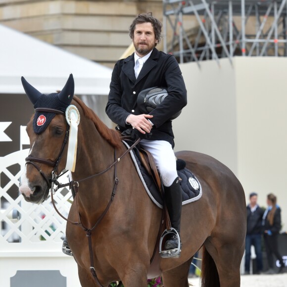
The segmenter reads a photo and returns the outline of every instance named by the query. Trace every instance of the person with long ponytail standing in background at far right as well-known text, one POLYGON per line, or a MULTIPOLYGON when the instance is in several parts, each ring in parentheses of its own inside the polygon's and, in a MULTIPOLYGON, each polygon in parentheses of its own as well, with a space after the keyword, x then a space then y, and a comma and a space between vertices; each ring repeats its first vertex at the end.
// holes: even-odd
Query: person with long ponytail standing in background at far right
POLYGON ((262 220, 264 243, 269 267, 265 274, 275 273, 273 266, 273 254, 280 262, 278 273, 285 273, 285 264, 278 250, 278 234, 281 230, 281 209, 277 205, 277 198, 273 193, 267 195, 267 205, 268 207, 264 212, 262 220))

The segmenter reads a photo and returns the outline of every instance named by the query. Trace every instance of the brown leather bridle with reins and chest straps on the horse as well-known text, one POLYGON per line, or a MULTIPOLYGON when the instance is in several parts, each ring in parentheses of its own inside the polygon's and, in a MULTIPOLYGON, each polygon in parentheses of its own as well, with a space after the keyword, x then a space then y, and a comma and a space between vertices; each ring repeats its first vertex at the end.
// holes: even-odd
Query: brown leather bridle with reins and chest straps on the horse
MULTIPOLYGON (((56 113, 56 114, 61 114, 61 115, 64 115, 65 116, 65 113, 60 111, 60 110, 57 110, 57 109, 51 109, 51 108, 36 108, 35 109, 35 112, 50 112, 50 113, 56 113)), ((116 157, 116 149, 114 149, 114 162, 108 166, 106 169, 104 169, 103 171, 97 173, 97 174, 94 174, 92 176, 89 176, 87 178, 84 178, 84 179, 81 179, 81 180, 78 180, 78 181, 70 181, 68 184, 60 184, 57 179, 59 177, 61 177, 62 175, 64 175, 67 171, 63 172, 62 174, 58 175, 58 165, 59 165, 59 162, 62 158, 62 154, 63 154, 63 151, 64 151, 64 148, 65 148, 65 145, 67 144, 68 142, 68 139, 69 139, 69 125, 67 124, 67 128, 66 128, 66 132, 65 132, 65 138, 64 138, 64 141, 62 143, 62 146, 61 146, 61 149, 60 149, 60 152, 56 158, 55 161, 51 161, 51 160, 47 160, 47 159, 43 159, 43 158, 39 158, 39 157, 34 157, 32 156, 31 154, 28 155, 28 157, 26 157, 26 164, 32 164, 38 171, 39 173, 41 174, 41 176, 45 179, 45 181, 47 182, 48 184, 48 189, 51 190, 51 201, 52 201, 52 204, 53 204, 53 207, 55 209, 55 211, 59 214, 59 216, 61 216, 64 220, 66 220, 67 222, 73 224, 73 225, 78 225, 80 226, 85 232, 86 232, 86 236, 88 238, 88 243, 89 243, 89 251, 90 251, 90 272, 93 276, 93 278, 95 279, 96 281, 96 284, 100 287, 102 287, 101 283, 99 282, 97 276, 96 276, 96 270, 95 270, 95 267, 94 267, 94 256, 93 256, 93 245, 92 245, 92 231, 96 228, 96 226, 99 224, 99 222, 103 219, 103 217, 105 216, 105 214, 107 213, 107 211, 109 210, 109 207, 113 201, 113 198, 115 196, 115 192, 116 192, 116 188, 117 188, 117 185, 118 185, 118 178, 117 178, 117 169, 116 169, 116 164, 120 161, 120 159, 122 157, 124 157, 127 153, 129 153, 140 141, 141 139, 139 138, 134 144, 132 144, 119 158, 116 157), (35 162, 39 162, 39 163, 43 163, 43 164, 46 164, 46 165, 49 165, 49 166, 52 166, 53 167, 53 170, 51 172, 51 177, 48 177, 47 175, 45 175, 45 173, 41 170, 41 168, 35 163, 35 162), (112 190, 112 194, 111 194, 111 197, 110 197, 110 200, 105 208, 105 210, 103 211, 103 213, 100 215, 100 217, 98 218, 96 224, 92 227, 92 228, 86 228, 82 221, 81 221, 81 215, 79 213, 79 209, 78 209, 78 196, 76 196, 78 194, 78 187, 79 187, 79 183, 82 182, 82 181, 85 181, 85 180, 89 180, 91 178, 94 178, 94 177, 97 177, 97 176, 100 176, 102 174, 104 174, 105 172, 107 172, 108 170, 110 170, 112 167, 114 167, 114 186, 113 186, 113 190, 112 190), (50 178, 50 179, 49 179, 50 178), (54 188, 54 186, 56 186, 54 188), (74 188, 75 190, 75 200, 76 200, 76 206, 77 206, 77 214, 78 214, 78 221, 77 222, 73 222, 71 220, 69 220, 68 218, 64 217, 57 209, 56 205, 55 205, 55 202, 54 202, 54 199, 53 199, 53 194, 59 189, 59 188, 63 188, 63 187, 67 187, 69 186, 69 189, 71 189, 72 187, 74 188)), ((119 283, 118 286, 122 286, 121 282, 119 283)))

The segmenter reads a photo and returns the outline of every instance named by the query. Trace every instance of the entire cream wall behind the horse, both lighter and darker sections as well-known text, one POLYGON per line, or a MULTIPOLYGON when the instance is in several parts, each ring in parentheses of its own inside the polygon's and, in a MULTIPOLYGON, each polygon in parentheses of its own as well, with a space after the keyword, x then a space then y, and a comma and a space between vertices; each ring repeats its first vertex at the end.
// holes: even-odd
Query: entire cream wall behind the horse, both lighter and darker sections
POLYGON ((239 178, 248 201, 273 192, 287 230, 287 58, 235 57, 181 65, 188 106, 173 122, 175 150, 209 154, 239 178))

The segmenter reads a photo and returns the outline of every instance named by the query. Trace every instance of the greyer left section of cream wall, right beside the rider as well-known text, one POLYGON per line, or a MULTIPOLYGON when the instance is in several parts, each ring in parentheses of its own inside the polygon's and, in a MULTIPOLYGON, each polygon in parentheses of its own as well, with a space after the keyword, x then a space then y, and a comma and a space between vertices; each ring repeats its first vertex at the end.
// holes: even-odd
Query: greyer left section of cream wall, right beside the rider
POLYGON ((175 150, 212 155, 237 173, 235 71, 228 59, 181 65, 188 105, 173 121, 175 150))

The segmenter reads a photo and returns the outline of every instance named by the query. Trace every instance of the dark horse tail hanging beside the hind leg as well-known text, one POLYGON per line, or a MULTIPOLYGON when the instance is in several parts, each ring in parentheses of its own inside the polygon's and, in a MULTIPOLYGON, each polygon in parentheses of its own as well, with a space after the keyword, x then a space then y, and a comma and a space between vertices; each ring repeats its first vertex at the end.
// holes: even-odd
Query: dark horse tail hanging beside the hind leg
POLYGON ((201 287, 220 287, 215 262, 204 245, 202 246, 201 287))

